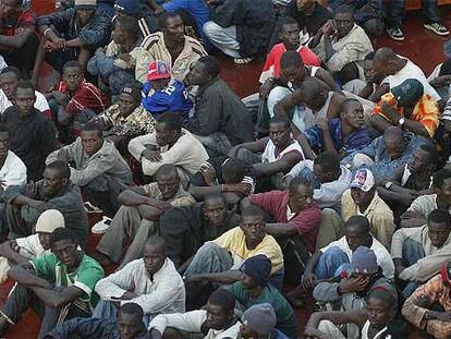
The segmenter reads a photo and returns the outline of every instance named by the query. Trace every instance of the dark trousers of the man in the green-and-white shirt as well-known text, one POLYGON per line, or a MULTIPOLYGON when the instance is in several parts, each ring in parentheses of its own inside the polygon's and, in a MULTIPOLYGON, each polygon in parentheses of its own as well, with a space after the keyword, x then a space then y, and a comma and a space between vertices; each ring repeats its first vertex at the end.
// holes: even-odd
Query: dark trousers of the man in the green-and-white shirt
POLYGON ((73 304, 69 306, 68 313, 63 314, 62 308, 54 308, 46 305, 31 289, 20 283, 17 283, 11 291, 7 303, 1 308, 1 313, 3 313, 3 315, 5 315, 11 322, 17 324, 28 307, 32 307, 41 319, 38 338, 44 338, 47 332, 52 330, 63 320, 74 317, 92 316, 73 304))

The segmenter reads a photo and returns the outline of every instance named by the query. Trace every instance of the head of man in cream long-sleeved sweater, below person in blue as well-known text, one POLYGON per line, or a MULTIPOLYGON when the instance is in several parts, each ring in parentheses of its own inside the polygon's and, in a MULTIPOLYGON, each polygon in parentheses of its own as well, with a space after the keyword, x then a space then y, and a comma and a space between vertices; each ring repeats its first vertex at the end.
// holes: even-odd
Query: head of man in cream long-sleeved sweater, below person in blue
POLYGON ((182 134, 183 118, 174 112, 166 112, 157 118, 155 134, 158 146, 172 146, 182 134))

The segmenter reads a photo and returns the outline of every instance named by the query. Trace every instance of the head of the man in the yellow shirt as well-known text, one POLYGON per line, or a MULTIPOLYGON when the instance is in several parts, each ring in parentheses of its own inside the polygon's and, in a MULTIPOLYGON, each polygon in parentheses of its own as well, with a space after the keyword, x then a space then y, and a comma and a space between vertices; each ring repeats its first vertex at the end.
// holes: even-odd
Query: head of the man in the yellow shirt
POLYGON ((247 249, 255 249, 266 237, 265 213, 255 205, 244 208, 241 213, 240 227, 244 233, 247 249))

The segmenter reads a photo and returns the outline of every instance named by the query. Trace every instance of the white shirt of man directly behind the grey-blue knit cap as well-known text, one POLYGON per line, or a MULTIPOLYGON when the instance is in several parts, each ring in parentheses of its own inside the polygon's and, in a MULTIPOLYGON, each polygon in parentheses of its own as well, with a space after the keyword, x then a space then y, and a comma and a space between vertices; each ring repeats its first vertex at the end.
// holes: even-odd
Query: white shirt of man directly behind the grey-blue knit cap
MULTIPOLYGON (((373 238, 373 244, 370 250, 373 250, 376 254, 377 264, 380 268, 382 268, 383 276, 389 279, 393 279, 394 277, 394 264, 393 259, 391 258, 390 253, 387 251, 387 249, 374 237, 373 238)), ((321 253, 325 253, 327 250, 329 250, 332 246, 339 247, 341 251, 343 251, 351 263, 352 257, 352 251, 350 249, 350 245, 348 244, 346 237, 342 237, 339 240, 336 240, 331 242, 326 247, 322 247, 321 253)))

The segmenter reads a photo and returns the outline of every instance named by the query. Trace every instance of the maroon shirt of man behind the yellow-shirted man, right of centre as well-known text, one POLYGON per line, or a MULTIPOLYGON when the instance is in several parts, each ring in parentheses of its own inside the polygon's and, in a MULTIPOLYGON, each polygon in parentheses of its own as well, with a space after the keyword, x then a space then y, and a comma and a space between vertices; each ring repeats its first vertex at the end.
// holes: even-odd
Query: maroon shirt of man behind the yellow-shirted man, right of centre
POLYGON ((287 207, 289 204, 288 191, 251 194, 249 201, 253 205, 260 206, 266 213, 271 215, 275 222, 292 223, 302 235, 302 240, 307 250, 312 253, 315 252, 316 237, 318 235, 319 223, 321 222, 321 210, 317 204, 296 213, 289 220, 287 216, 287 207))

